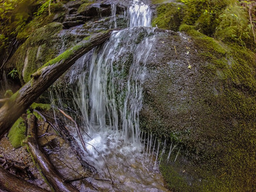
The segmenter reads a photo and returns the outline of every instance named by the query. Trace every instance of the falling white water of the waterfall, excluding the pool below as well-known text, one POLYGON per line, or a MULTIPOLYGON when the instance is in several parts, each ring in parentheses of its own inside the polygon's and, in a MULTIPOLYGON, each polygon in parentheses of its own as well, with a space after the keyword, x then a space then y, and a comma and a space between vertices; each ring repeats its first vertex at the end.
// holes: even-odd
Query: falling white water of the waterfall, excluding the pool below
MULTIPOLYGON (((115 18, 115 6, 112 10, 115 18)), ((133 1, 129 15, 131 27, 150 26, 148 5, 133 1)), ((132 31, 132 28, 114 31, 109 41, 93 53, 91 61, 83 63, 87 70, 78 77, 75 97, 83 115, 83 127, 90 135, 111 130, 115 134, 121 132, 125 143, 140 144, 141 84, 154 38, 131 44, 127 37, 132 37, 132 31), (125 55, 129 56, 125 58, 125 55)), ((152 33, 150 28, 138 28, 137 31, 145 36, 152 33)))

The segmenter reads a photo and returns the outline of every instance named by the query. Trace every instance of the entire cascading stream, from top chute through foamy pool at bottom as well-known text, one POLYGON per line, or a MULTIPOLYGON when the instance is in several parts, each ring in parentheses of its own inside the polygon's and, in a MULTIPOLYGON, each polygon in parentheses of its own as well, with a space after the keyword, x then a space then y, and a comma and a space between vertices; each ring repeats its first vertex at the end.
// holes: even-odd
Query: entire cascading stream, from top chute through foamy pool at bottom
MULTIPOLYGON (((116 26, 116 6, 111 8, 116 26)), ((147 72, 145 65, 150 49, 155 43, 154 29, 150 28, 151 15, 147 4, 132 1, 129 8, 131 28, 113 31, 102 47, 84 55, 76 64, 83 65, 81 68, 86 70, 70 79, 77 83, 74 100, 83 116, 81 127, 92 138, 89 139, 86 134, 83 136, 84 141, 90 143, 86 145, 86 159, 104 178, 108 178, 104 161, 98 154, 100 152, 122 191, 167 191, 161 175, 154 171, 157 159, 152 164, 150 150, 154 137, 147 134, 147 148, 141 143, 141 84, 147 72)), ((146 132, 144 137, 145 144, 146 132)), ((155 144, 156 139, 154 147, 155 144)))

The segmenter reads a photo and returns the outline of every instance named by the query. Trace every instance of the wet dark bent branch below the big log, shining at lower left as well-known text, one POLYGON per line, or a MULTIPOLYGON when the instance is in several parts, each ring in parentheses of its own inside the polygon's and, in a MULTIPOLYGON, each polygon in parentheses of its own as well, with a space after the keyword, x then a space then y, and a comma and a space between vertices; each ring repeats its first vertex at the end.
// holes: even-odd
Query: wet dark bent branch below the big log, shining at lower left
POLYGON ((64 182, 64 177, 56 170, 49 158, 42 152, 42 148, 37 143, 36 117, 31 115, 28 119, 28 140, 27 144, 31 155, 40 166, 45 178, 56 191, 75 192, 78 191, 71 184, 64 182))

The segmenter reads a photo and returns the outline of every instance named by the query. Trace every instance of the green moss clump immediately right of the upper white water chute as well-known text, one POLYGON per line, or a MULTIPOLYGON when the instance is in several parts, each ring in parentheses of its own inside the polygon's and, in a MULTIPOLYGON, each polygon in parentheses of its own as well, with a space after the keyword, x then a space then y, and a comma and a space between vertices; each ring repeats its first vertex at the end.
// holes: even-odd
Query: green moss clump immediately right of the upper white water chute
POLYGON ((161 29, 178 31, 182 21, 182 4, 166 3, 157 6, 157 17, 152 21, 152 26, 161 29))

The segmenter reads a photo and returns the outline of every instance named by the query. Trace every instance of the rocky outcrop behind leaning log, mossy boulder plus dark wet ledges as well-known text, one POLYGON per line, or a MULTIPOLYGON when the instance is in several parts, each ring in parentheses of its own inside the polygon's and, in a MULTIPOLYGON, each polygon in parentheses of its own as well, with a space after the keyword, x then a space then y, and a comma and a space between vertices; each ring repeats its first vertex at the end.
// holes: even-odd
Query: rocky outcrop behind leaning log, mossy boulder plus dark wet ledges
MULTIPOLYGON (((54 9, 55 10, 55 9, 54 9)), ((116 5, 118 28, 127 26, 125 7, 116 5)), ((86 36, 114 28, 111 4, 70 1, 52 13, 49 24, 35 29, 6 63, 7 71, 17 68, 22 84, 44 63, 76 45, 86 36)), ((33 21, 31 21, 33 22, 33 21)), ((36 21, 35 21, 36 22, 36 21)), ((28 30, 26 28, 26 30, 28 30)), ((29 31, 29 30, 28 30, 29 31)))

